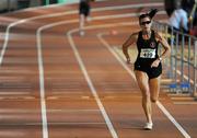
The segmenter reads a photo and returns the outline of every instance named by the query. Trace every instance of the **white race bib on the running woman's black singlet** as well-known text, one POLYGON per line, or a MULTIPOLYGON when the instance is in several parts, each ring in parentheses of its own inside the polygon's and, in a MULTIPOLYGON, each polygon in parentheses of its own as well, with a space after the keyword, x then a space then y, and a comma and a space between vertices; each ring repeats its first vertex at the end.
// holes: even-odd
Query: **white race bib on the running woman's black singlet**
POLYGON ((140 58, 155 58, 155 49, 142 48, 140 53, 140 58))

